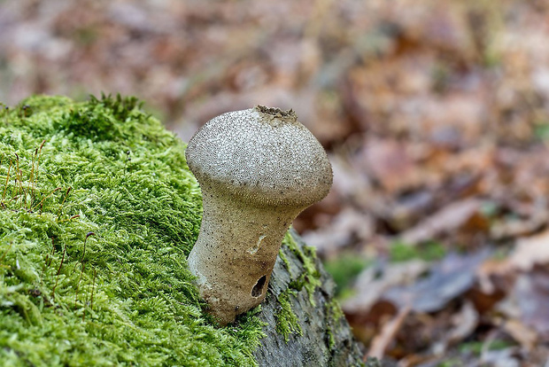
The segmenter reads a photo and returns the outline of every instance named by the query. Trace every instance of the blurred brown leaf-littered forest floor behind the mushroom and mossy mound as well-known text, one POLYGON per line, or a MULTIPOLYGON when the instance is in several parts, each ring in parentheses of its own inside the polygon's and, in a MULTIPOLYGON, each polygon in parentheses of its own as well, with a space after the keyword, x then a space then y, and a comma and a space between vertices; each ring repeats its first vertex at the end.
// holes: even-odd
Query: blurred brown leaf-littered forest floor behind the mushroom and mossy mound
POLYGON ((365 352, 549 365, 549 1, 0 0, 0 101, 101 92, 185 141, 293 108, 335 172, 294 227, 365 352))

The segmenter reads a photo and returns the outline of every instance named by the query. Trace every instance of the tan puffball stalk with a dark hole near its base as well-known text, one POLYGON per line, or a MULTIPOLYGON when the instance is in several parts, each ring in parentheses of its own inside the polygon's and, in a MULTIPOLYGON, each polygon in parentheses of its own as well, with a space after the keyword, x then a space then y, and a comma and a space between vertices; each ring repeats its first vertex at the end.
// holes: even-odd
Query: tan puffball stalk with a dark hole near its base
POLYGON ((205 196, 203 207, 189 269, 213 316, 228 324, 265 299, 282 238, 298 213, 251 207, 222 195, 205 196))

